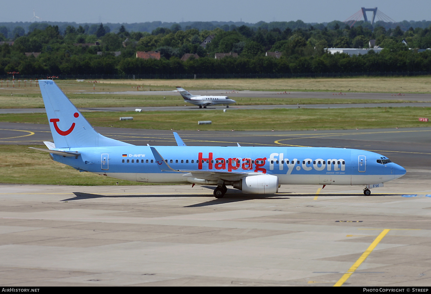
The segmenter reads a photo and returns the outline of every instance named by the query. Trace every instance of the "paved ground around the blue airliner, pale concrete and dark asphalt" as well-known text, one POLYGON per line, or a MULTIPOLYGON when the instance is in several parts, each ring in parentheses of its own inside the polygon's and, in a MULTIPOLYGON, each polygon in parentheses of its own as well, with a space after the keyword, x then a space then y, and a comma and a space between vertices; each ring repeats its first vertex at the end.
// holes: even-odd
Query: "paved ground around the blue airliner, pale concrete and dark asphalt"
MULTIPOLYGON (((175 145, 172 131, 95 129, 175 145)), ((0 285, 430 286, 430 132, 178 131, 190 146, 366 149, 407 169, 371 196, 331 185, 215 199, 206 186, 0 184, 0 285)), ((42 141, 48 125, 0 123, 0 144, 42 141)))

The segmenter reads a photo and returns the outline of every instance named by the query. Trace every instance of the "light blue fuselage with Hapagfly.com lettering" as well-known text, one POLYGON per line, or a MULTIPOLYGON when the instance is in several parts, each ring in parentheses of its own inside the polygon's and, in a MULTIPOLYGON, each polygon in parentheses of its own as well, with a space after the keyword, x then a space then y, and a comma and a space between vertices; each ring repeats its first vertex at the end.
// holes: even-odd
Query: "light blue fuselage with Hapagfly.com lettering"
POLYGON ((254 172, 276 175, 279 184, 333 185, 377 184, 406 173, 393 162, 378 163, 387 159, 378 153, 345 148, 157 146, 168 165, 182 172, 162 172, 148 146, 80 147, 70 151, 81 155, 53 154, 53 158, 81 171, 155 183, 193 182, 183 176, 184 171, 254 172))

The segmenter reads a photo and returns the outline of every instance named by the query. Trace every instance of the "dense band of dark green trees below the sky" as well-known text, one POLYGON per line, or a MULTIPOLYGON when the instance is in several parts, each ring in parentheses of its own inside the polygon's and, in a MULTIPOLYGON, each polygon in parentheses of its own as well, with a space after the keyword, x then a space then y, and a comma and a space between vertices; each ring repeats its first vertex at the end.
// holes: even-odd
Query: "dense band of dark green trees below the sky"
MULTIPOLYGON (((38 23, 41 26, 41 23, 38 23)), ((13 46, 0 46, 0 75, 19 71, 30 75, 60 74, 204 74, 204 73, 350 73, 389 71, 430 71, 431 28, 403 30, 400 26, 352 28, 341 22, 309 28, 254 28, 246 25, 228 30, 183 30, 174 24, 149 32, 128 31, 120 26, 111 32, 103 24, 90 27, 72 25, 62 32, 58 26, 34 28, 16 37, 13 46), (213 35, 204 48, 203 40, 213 35), (368 48, 369 40, 384 49, 365 55, 331 55, 325 48, 368 48), (407 46, 402 43, 405 40, 407 46), (95 45, 99 42, 99 45, 95 45), (76 44, 81 44, 80 46, 76 44), (94 44, 88 46, 84 44, 94 44), (411 49, 409 49, 411 48, 411 49), (136 58, 137 51, 161 53, 162 58, 136 58), (265 56, 279 51, 281 58, 265 56), (41 52, 37 57, 25 52, 41 52), (99 54, 97 54, 99 52, 99 54), (121 52, 115 56, 114 52, 121 52), (235 52, 215 59, 215 52, 235 52), (187 61, 180 58, 195 53, 187 61)), ((0 41, 7 40, 2 36, 0 41)))

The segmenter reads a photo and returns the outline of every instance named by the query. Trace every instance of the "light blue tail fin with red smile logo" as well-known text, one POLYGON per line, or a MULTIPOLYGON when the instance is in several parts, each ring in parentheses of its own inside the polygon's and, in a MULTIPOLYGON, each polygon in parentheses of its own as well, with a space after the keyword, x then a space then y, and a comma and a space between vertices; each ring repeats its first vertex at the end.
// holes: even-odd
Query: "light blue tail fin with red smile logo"
POLYGON ((131 145, 100 135, 53 80, 39 80, 56 148, 131 145))

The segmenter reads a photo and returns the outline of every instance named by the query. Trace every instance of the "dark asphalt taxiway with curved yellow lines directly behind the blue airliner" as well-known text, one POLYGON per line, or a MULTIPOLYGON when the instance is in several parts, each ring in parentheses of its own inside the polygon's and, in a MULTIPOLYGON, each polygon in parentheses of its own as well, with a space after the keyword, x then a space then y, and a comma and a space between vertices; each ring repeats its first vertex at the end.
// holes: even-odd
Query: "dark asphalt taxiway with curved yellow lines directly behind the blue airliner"
MULTIPOLYGON (((174 131, 95 127, 97 132, 134 145, 175 145, 174 131)), ((431 128, 350 129, 275 132, 175 131, 190 146, 309 146, 370 150, 413 169, 431 168, 431 128)), ((0 122, 0 144, 52 141, 44 124, 0 122)))

